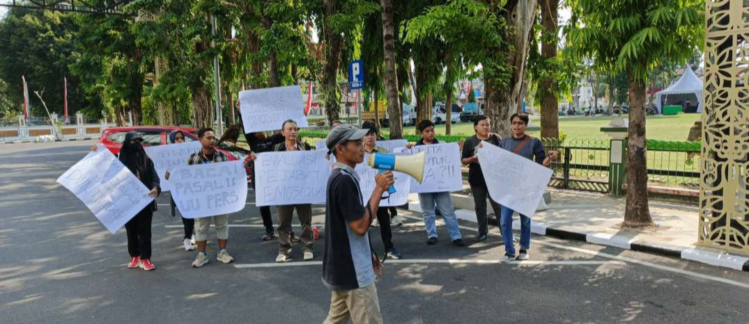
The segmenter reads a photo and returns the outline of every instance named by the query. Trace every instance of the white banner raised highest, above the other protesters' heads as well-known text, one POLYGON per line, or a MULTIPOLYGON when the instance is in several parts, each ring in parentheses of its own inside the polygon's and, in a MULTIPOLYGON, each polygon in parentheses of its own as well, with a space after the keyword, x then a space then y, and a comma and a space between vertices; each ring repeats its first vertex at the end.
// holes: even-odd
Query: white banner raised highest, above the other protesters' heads
POLYGON ((289 119, 300 128, 309 126, 298 85, 240 91, 239 100, 245 134, 281 129, 289 119))

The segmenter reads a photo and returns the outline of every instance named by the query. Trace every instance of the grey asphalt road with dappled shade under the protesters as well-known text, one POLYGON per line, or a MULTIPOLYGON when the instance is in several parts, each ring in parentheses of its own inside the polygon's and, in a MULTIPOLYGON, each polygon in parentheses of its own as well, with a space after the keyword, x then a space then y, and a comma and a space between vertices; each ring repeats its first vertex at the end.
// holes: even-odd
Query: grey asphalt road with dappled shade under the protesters
MULTIPOLYGON (((109 233, 55 183, 92 143, 0 145, 0 323, 324 320, 322 241, 313 262, 295 247, 293 262, 273 263, 277 243, 260 241, 252 192, 230 219, 236 263, 215 260, 212 233, 211 262, 190 268, 195 252, 181 247, 181 220, 163 195, 157 269, 126 269, 124 230, 109 233)), ((322 224, 324 210, 314 211, 322 224)), ((544 236, 533 236, 530 262, 500 264, 496 228, 489 242, 456 248, 440 226, 440 242, 425 245, 419 215, 399 213, 406 224, 394 242, 405 259, 388 261, 377 282, 385 323, 749 323, 747 272, 544 236)), ((475 227, 461 225, 472 242, 475 227)), ((377 228, 372 235, 379 245, 377 228)))

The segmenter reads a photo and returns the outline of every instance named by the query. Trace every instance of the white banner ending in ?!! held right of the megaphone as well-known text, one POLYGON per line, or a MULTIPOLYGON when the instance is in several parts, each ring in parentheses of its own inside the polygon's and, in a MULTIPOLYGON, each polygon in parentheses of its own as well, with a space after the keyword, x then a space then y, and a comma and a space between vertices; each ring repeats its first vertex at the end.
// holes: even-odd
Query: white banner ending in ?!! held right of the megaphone
POLYGON ((419 145, 409 152, 426 152, 422 183, 411 178, 411 192, 458 192, 463 189, 461 153, 458 143, 419 145))

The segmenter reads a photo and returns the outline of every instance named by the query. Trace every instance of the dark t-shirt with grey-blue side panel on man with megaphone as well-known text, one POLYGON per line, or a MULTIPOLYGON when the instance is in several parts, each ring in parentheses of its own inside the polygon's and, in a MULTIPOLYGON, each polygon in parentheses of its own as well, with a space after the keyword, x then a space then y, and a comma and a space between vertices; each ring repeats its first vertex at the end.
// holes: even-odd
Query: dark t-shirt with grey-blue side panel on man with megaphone
POLYGON ((327 182, 323 283, 331 290, 354 290, 375 282, 369 233, 354 233, 349 221, 364 217, 356 172, 336 163, 327 182))

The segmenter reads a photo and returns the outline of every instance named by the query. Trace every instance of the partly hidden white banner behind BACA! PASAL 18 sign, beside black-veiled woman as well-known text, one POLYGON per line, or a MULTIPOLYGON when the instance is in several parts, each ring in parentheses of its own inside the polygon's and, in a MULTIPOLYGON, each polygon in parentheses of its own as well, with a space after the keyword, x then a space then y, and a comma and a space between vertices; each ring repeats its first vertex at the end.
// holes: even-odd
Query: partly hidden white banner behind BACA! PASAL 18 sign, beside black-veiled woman
POLYGON ((169 180, 164 179, 166 171, 172 171, 182 165, 187 165, 190 154, 200 150, 199 141, 186 141, 178 144, 157 145, 145 147, 145 153, 154 161, 154 168, 161 180, 161 191, 167 192, 172 189, 169 180))

